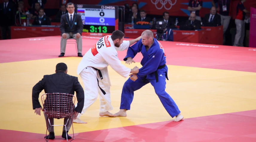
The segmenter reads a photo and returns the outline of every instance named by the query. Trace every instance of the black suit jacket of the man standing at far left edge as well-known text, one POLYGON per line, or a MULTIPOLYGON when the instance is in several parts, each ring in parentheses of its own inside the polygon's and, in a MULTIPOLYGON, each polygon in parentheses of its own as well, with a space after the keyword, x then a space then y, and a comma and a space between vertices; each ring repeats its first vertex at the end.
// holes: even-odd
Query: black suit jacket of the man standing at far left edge
POLYGON ((4 2, 0 4, 0 26, 13 26, 15 24, 16 5, 9 1, 6 12, 4 11, 4 2))

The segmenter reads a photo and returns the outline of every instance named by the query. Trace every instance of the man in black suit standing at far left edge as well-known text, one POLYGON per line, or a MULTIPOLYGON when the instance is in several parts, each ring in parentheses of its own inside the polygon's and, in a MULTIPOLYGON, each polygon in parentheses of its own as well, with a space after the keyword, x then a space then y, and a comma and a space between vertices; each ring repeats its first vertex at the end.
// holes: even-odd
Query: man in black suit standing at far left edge
POLYGON ((0 4, 0 27, 2 39, 11 39, 11 26, 15 24, 16 5, 11 0, 3 0, 0 4), (8 34, 8 38, 7 38, 8 34))

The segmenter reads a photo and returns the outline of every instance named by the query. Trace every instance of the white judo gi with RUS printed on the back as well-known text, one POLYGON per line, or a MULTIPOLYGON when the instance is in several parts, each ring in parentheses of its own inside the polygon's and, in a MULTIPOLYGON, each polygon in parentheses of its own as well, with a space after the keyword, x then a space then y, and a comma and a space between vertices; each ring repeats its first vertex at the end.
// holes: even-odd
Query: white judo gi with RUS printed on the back
POLYGON ((121 64, 117 57, 117 50, 127 50, 129 44, 129 41, 124 40, 120 47, 115 47, 111 35, 106 35, 100 38, 83 56, 77 67, 77 74, 80 75, 84 84, 84 106, 82 113, 79 113, 77 118, 80 118, 96 101, 98 93, 100 94, 100 113, 113 110, 110 100, 111 83, 107 67, 110 65, 122 77, 129 76, 131 69, 121 64), (100 71, 96 71, 97 69, 100 71), (100 77, 100 72, 102 77, 100 77))

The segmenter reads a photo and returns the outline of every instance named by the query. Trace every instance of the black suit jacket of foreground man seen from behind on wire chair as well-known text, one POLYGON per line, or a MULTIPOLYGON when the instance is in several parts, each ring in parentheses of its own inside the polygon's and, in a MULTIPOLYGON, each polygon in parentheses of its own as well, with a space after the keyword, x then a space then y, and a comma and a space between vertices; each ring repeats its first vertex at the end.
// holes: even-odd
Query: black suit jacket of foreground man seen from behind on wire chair
POLYGON ((44 75, 32 89, 32 104, 33 110, 40 108, 39 93, 45 90, 45 93, 67 93, 74 95, 76 91, 77 107, 75 111, 81 113, 84 105, 84 91, 80 85, 78 78, 65 74, 64 72, 58 72, 56 74, 44 75))

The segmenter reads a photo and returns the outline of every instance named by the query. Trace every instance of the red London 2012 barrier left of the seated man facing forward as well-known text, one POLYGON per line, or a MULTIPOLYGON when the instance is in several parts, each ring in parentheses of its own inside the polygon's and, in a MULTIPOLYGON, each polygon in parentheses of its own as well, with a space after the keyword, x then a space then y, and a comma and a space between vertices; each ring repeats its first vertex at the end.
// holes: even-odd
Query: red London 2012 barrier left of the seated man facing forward
POLYGON ((59 27, 11 26, 11 39, 60 35, 59 27))

